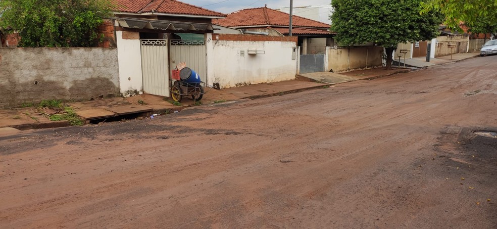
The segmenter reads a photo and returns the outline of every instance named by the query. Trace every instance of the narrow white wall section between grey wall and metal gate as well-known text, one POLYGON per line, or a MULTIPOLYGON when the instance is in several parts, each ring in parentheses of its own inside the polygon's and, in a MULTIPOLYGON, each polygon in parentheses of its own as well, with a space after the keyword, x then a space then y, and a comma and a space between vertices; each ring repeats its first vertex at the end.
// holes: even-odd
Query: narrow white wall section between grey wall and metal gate
POLYGON ((125 97, 130 96, 134 90, 137 90, 141 94, 143 77, 141 73, 140 40, 123 39, 122 31, 116 31, 116 36, 121 94, 125 97))

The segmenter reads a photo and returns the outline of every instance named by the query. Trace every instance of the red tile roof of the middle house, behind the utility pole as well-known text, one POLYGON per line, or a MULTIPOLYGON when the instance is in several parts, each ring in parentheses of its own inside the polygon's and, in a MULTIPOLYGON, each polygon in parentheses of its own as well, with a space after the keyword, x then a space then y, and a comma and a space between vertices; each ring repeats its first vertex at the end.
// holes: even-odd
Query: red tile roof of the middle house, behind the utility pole
MULTIPOLYGON (((228 14, 225 19, 213 20, 213 23, 229 27, 247 27, 257 25, 288 26, 290 15, 281 11, 262 8, 245 9, 228 14)), ((292 26, 308 28, 329 28, 330 25, 311 19, 293 16, 292 26)))

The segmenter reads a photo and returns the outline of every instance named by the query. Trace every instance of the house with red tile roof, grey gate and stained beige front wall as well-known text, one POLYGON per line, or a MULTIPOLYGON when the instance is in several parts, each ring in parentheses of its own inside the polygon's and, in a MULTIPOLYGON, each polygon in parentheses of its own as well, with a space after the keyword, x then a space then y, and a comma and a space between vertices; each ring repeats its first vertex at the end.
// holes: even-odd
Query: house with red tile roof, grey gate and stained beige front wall
MULTIPOLYGON (((289 36, 289 18, 287 13, 261 7, 233 12, 213 23, 241 29, 245 34, 289 36)), ((298 73, 381 66, 383 48, 374 45, 337 47, 333 39, 335 33, 327 23, 293 15, 291 35, 297 37, 300 47, 298 73)))

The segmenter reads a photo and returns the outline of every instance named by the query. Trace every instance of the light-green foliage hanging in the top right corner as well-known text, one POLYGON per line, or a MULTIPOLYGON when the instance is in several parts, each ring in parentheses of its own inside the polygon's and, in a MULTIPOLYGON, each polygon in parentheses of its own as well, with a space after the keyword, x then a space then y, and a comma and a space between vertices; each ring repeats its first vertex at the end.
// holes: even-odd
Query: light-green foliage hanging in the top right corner
POLYGON ((439 11, 445 16, 444 24, 461 31, 460 22, 472 27, 485 18, 489 24, 497 24, 497 0, 429 0, 422 3, 422 13, 439 11))

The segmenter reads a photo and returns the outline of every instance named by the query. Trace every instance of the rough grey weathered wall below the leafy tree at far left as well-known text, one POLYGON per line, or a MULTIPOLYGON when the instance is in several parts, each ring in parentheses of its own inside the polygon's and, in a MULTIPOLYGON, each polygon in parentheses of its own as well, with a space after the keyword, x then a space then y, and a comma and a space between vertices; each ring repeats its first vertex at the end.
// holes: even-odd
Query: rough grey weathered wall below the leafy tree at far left
POLYGON ((117 49, 0 49, 0 108, 119 95, 117 49))

